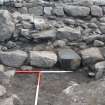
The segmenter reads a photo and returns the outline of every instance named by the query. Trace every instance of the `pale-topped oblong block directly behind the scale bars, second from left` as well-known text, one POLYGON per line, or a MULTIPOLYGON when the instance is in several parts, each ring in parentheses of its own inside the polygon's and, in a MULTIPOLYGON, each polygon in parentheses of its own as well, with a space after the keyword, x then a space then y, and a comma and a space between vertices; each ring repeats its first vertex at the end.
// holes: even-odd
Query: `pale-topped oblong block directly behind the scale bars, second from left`
POLYGON ((57 62, 57 55, 51 51, 30 51, 30 64, 50 68, 57 62))

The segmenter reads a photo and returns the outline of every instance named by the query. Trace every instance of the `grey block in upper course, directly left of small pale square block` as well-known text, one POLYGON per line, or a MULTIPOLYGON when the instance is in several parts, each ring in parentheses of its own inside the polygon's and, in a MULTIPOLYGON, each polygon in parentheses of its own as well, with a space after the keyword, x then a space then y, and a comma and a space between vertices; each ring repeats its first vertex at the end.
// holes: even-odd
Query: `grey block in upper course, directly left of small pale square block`
POLYGON ((41 16, 41 15, 43 15, 43 7, 37 6, 37 7, 29 8, 29 13, 33 14, 35 16, 41 16))

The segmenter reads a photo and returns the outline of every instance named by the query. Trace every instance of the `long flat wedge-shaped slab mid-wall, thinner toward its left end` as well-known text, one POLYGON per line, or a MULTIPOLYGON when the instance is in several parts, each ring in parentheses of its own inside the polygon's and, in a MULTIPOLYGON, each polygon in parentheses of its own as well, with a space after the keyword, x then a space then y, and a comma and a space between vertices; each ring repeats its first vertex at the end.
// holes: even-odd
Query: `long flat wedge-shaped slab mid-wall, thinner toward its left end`
POLYGON ((38 33, 33 33, 32 37, 34 39, 46 39, 46 40, 53 40, 56 38, 56 31, 55 30, 46 30, 38 33))

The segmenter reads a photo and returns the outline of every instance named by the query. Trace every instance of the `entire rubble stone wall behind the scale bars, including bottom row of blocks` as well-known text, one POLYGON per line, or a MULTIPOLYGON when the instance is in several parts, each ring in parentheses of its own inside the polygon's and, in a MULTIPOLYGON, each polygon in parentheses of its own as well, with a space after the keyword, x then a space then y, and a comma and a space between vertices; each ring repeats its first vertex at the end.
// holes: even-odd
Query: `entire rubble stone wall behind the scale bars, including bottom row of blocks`
POLYGON ((0 4, 2 64, 16 68, 59 65, 69 70, 85 67, 89 76, 102 76, 104 0, 7 0, 0 4))

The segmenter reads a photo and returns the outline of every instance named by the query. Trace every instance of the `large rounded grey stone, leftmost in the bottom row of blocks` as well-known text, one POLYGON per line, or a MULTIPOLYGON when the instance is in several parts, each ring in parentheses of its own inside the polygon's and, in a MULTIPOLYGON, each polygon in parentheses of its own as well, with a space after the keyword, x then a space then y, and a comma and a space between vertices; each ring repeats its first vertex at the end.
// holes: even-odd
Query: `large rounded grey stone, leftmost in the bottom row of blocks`
POLYGON ((12 67, 21 66, 27 58, 27 53, 21 50, 3 52, 0 51, 0 59, 3 64, 12 67))

